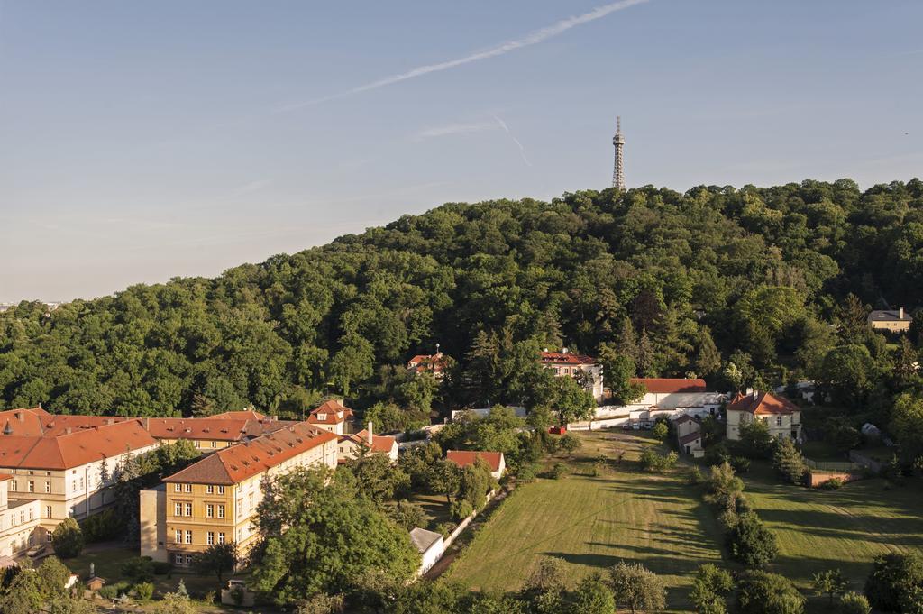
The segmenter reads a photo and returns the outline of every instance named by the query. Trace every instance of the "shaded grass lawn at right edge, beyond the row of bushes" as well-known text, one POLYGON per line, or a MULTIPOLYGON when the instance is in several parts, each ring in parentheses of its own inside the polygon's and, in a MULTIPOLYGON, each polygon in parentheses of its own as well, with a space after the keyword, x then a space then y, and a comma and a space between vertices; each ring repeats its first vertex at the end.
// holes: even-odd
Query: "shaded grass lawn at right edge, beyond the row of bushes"
POLYGON ((861 590, 875 555, 923 547, 917 481, 885 490, 883 480, 869 479, 824 491, 778 484, 763 472, 744 478, 753 508, 778 539, 772 571, 802 588, 814 572, 838 568, 861 590))

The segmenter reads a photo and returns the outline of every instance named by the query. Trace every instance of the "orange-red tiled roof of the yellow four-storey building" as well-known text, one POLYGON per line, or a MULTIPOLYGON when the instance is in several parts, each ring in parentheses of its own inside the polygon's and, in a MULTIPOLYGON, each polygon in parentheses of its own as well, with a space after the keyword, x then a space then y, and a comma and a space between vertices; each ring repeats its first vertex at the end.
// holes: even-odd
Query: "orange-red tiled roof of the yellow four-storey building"
POLYGON ((333 433, 299 422, 211 453, 163 481, 230 486, 336 439, 333 433))

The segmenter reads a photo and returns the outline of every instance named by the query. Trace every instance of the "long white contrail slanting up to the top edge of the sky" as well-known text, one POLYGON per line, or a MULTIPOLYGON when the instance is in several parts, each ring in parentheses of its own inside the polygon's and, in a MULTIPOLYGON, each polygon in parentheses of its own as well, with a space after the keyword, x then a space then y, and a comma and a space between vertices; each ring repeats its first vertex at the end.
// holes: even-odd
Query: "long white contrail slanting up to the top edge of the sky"
POLYGON ((401 81, 406 81, 409 78, 423 77, 430 73, 440 72, 442 70, 448 70, 456 66, 463 66, 465 64, 471 64, 472 62, 477 62, 479 60, 486 60, 491 57, 497 57, 497 55, 509 54, 511 51, 516 51, 522 49, 523 47, 529 47, 533 44, 538 44, 539 42, 545 42, 550 38, 557 36, 558 34, 563 34, 564 32, 570 30, 571 28, 576 28, 581 26, 584 23, 589 23, 595 21, 596 19, 604 18, 609 13, 615 13, 630 6, 640 5, 642 3, 648 2, 648 0, 620 0, 620 2, 613 2, 603 6, 597 6, 593 8, 589 13, 583 13, 582 15, 577 15, 574 17, 569 17, 566 19, 561 19, 557 23, 546 26, 540 30, 534 30, 529 34, 526 34, 521 39, 516 39, 513 41, 504 42, 486 49, 485 51, 479 51, 473 54, 465 55, 463 57, 456 58, 454 60, 447 60, 445 62, 439 62, 438 64, 427 64, 426 66, 417 66, 406 72, 402 72, 397 75, 391 75, 390 77, 379 78, 376 81, 371 81, 366 83, 366 85, 360 85, 357 88, 352 90, 341 91, 336 94, 330 94, 330 96, 324 96, 323 98, 316 98, 311 101, 306 102, 294 102, 287 104, 285 106, 277 109, 278 111, 294 111, 295 109, 301 109, 306 106, 311 106, 313 104, 318 104, 320 102, 327 102, 335 100, 338 98, 343 98, 345 96, 351 96, 353 94, 358 94, 363 91, 369 90, 378 90, 378 88, 384 88, 385 86, 393 85, 395 83, 400 83, 401 81))

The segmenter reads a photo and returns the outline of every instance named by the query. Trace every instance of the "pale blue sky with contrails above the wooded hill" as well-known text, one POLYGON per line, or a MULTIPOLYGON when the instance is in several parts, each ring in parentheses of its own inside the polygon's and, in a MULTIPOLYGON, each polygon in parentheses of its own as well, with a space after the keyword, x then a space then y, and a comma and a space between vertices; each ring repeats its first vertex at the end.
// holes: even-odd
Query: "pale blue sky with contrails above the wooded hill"
POLYGON ((923 175, 923 3, 0 0, 0 303, 444 202, 923 175))

